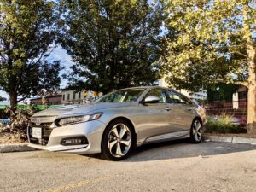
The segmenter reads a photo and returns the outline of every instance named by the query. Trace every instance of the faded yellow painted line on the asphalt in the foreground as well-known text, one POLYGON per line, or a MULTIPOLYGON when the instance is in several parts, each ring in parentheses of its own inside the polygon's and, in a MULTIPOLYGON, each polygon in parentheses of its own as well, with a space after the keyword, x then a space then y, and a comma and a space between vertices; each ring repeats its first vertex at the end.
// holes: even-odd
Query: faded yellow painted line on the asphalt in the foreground
POLYGON ((87 184, 102 182, 102 181, 108 180, 113 177, 115 177, 115 175, 110 175, 110 176, 106 176, 106 177, 98 177, 95 179, 86 179, 86 180, 79 181, 77 183, 65 184, 65 185, 57 187, 55 189, 45 190, 44 192, 60 192, 60 191, 64 191, 67 189, 79 188, 79 187, 82 187, 87 184))

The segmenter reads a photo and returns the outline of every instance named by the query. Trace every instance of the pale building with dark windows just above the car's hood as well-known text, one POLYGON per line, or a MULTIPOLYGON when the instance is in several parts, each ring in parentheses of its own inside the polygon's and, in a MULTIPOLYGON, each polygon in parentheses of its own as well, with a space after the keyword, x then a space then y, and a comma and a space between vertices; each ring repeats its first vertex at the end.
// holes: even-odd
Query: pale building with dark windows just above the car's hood
POLYGON ((62 104, 84 104, 93 102, 96 98, 102 96, 102 93, 96 91, 77 91, 77 90, 62 90, 61 103, 62 104))

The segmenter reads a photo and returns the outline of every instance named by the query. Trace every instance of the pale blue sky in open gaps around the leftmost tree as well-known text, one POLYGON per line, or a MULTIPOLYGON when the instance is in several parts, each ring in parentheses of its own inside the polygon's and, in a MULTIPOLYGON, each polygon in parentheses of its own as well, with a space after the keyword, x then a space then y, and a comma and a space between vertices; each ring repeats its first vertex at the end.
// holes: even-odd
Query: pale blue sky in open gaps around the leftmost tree
MULTIPOLYGON (((56 47, 53 52, 48 57, 49 61, 61 61, 61 65, 65 67, 63 71, 69 71, 69 67, 72 66, 73 62, 71 61, 71 56, 67 54, 65 49, 62 49, 61 46, 56 47)), ((61 79, 61 88, 64 88, 67 85, 65 79, 61 79)), ((0 90, 0 96, 8 98, 7 93, 0 90)), ((1 104, 6 104, 6 102, 0 102, 1 104)))

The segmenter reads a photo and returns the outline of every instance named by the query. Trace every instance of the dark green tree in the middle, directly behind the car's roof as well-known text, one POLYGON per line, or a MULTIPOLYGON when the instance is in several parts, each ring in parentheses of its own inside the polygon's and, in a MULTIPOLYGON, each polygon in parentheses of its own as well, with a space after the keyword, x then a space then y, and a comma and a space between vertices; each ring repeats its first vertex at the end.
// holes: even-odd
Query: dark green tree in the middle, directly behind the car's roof
POLYGON ((108 92, 158 79, 162 6, 146 0, 61 1, 62 46, 72 55, 70 83, 108 92), (74 78, 77 77, 77 78, 74 78))

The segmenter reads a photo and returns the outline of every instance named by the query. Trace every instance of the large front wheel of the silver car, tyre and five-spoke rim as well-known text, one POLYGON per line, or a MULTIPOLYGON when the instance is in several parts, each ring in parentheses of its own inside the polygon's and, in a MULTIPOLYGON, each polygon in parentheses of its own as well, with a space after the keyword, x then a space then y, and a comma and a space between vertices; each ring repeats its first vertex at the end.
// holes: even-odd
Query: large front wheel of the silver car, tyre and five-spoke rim
POLYGON ((125 120, 116 119, 110 123, 102 137, 102 158, 124 160, 134 146, 134 131, 125 120))

